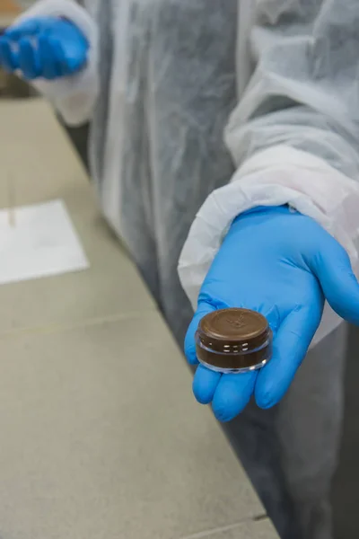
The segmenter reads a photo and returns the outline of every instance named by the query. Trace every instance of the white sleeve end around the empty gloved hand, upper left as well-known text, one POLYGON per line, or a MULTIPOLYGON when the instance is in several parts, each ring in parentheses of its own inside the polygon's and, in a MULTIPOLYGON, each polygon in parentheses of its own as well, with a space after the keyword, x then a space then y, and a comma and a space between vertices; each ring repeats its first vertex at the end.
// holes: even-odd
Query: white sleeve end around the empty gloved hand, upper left
POLYGON ((34 87, 54 104, 68 125, 81 125, 92 118, 92 110, 99 93, 96 23, 73 0, 40 0, 23 13, 15 24, 43 16, 66 18, 83 32, 89 42, 87 64, 80 73, 61 77, 56 81, 39 79, 33 82, 34 87))

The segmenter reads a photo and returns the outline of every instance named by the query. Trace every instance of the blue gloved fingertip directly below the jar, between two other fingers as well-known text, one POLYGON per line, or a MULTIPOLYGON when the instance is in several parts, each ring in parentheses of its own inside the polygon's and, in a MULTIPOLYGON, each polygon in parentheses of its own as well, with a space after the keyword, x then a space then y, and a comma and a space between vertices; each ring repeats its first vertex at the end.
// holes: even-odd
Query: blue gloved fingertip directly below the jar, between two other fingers
POLYGON ((258 371, 221 376, 212 401, 215 417, 220 421, 233 420, 250 402, 258 371))

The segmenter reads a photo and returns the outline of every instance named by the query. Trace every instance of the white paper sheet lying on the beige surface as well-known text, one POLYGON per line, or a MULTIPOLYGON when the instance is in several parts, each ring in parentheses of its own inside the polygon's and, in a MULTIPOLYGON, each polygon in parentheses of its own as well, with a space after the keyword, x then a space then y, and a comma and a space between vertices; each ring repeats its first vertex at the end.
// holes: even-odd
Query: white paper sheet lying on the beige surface
POLYGON ((62 200, 0 210, 0 285, 85 270, 89 262, 62 200))

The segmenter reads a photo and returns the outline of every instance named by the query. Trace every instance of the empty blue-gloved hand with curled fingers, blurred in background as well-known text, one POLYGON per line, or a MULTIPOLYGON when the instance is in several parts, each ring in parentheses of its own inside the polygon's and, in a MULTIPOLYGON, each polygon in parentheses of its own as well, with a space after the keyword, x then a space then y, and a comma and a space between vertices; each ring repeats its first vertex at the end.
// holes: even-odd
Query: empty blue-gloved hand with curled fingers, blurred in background
POLYGON ((27 80, 74 75, 86 63, 89 44, 72 22, 55 17, 29 19, 0 37, 0 66, 20 70, 27 80))

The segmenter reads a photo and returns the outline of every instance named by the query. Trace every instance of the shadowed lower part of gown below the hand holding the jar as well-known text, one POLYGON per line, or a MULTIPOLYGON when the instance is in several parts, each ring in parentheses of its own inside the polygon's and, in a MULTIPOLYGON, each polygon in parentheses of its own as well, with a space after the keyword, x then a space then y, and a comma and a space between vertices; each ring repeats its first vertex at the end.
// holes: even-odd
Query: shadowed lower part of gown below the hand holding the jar
POLYGON ((343 324, 311 349, 278 406, 260 410, 250 402, 224 425, 282 539, 333 539, 345 352, 343 324))

